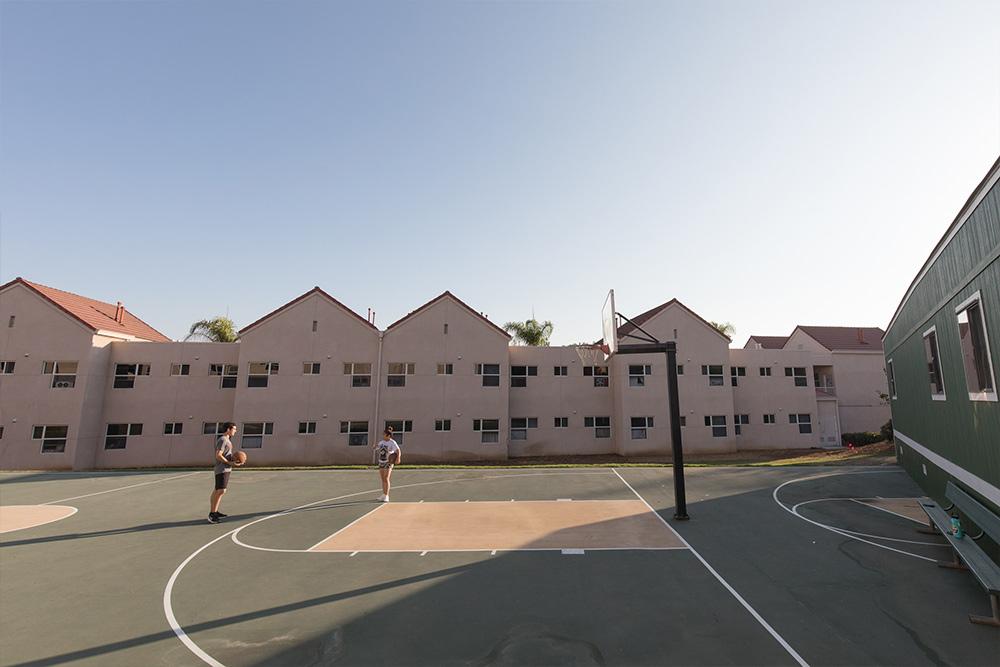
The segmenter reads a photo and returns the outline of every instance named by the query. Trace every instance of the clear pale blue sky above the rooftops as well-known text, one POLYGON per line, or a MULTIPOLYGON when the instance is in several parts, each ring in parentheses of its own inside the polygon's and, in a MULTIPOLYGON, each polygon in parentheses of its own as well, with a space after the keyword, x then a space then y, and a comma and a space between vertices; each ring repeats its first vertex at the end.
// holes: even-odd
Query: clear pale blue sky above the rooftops
POLYGON ((0 281, 882 326, 1000 154, 1000 3, 0 0, 0 281))

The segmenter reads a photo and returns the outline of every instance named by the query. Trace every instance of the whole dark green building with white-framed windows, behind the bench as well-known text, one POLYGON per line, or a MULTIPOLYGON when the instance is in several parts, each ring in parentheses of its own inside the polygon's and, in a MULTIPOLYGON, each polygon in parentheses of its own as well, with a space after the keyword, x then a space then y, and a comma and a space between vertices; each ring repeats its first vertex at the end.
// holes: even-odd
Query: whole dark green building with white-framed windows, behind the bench
POLYGON ((1000 514, 1000 159, 910 284, 884 338, 900 463, 942 501, 1000 514))

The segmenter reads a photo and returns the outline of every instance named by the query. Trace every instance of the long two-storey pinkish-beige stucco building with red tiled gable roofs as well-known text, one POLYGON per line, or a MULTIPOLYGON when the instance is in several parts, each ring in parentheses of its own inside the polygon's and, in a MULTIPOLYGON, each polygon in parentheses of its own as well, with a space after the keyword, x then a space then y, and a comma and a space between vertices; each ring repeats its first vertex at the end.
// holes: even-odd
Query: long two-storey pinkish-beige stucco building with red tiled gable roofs
MULTIPOLYGON (((743 349, 676 299, 634 318, 678 347, 686 452, 838 446, 889 419, 882 331, 797 327, 743 349)), ((662 354, 584 365, 521 347, 450 292, 376 327, 320 288, 240 331, 178 342, 111 304, 0 287, 0 468, 204 465, 221 424, 258 465, 666 455, 662 354)))

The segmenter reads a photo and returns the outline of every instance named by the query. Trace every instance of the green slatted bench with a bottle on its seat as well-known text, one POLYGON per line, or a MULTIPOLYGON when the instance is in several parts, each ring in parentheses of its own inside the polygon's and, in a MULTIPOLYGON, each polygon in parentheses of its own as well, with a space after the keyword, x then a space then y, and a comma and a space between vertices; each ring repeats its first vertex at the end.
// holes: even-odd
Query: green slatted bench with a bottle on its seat
MULTIPOLYGON (((938 565, 972 572, 989 595, 993 616, 969 614, 969 620, 973 623, 1000 627, 1000 565, 997 565, 976 544, 976 540, 981 539, 984 535, 988 535, 994 542, 1000 543, 1000 517, 951 482, 948 482, 945 487, 945 497, 952 503, 947 511, 930 498, 920 499, 920 506, 929 519, 930 531, 940 532, 954 549, 954 561, 950 563, 939 562, 938 565), (949 511, 953 508, 978 526, 981 532, 972 537, 966 529, 965 537, 957 538, 952 535, 949 511)), ((967 522, 963 522, 963 528, 965 528, 964 523, 967 522)))

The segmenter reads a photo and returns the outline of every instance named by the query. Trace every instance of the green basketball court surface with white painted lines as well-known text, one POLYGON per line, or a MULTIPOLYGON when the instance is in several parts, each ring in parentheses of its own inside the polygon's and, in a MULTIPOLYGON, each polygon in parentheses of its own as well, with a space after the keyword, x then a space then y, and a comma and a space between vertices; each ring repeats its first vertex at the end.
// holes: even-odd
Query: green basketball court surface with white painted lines
POLYGON ((393 509, 373 471, 237 470, 218 525, 207 470, 0 474, 2 506, 78 510, 0 534, 0 663, 998 664, 1000 631, 967 620, 986 596, 935 566, 944 540, 860 502, 921 495, 895 466, 690 469, 681 523, 669 468, 407 469, 393 483, 389 505, 422 502, 432 522, 407 548, 367 549, 373 512, 393 509), (590 549, 555 531, 545 544, 565 548, 433 548, 455 503, 544 532, 544 517, 505 524, 525 501, 560 503, 605 540, 625 533, 587 524, 587 503, 632 501, 649 544, 677 546, 590 549), (311 550, 335 534, 361 546, 311 550))

